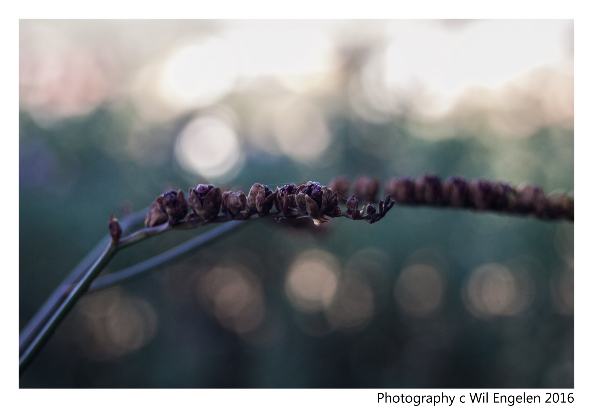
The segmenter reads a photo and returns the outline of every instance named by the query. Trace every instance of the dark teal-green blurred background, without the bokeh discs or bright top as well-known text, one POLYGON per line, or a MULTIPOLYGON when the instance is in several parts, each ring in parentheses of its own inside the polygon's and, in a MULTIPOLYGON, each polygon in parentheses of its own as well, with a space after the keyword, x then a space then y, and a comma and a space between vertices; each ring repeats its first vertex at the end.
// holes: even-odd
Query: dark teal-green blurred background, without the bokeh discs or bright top
MULTIPOLYGON (((169 160, 161 165, 131 160, 127 141, 132 119, 131 110, 101 108, 43 129, 21 113, 20 329, 107 233, 111 213, 120 216, 126 203, 139 210, 168 186, 187 191, 201 181, 186 174, 173 156, 173 142, 186 119, 162 131, 169 160)), ((529 180, 546 191, 574 189, 573 131, 540 129, 520 139, 458 135, 426 141, 413 135, 405 118, 377 125, 348 113, 329 118, 329 128, 333 142, 325 164, 307 166, 246 147, 246 164, 227 187, 248 191, 255 182, 304 180, 326 184, 339 174, 368 174, 384 183, 391 176, 430 171, 440 177, 503 178, 515 185, 529 180), (504 167, 504 160, 520 166, 504 167)), ((573 235, 570 223, 395 206, 375 225, 346 219, 327 224, 323 233, 303 234, 253 220, 180 261, 207 265, 233 251, 255 254, 262 266, 256 274, 263 283, 266 311, 281 329, 269 345, 252 345, 225 329, 195 299, 166 296, 165 283, 174 280, 172 266, 122 285, 125 294, 143 298, 156 311, 159 324, 150 343, 118 359, 94 361, 60 327, 21 376, 20 387, 574 386, 574 319, 559 314, 551 298, 552 277, 565 268, 556 250, 558 229, 573 235), (368 247, 390 257, 386 283, 373 288, 376 313, 363 330, 313 337, 298 326, 303 313, 285 295, 285 274, 292 260, 312 247, 331 252, 343 264, 368 247), (446 286, 439 312, 417 319, 401 311, 392 288, 408 257, 422 248, 439 249, 445 258, 446 286), (520 257, 536 261, 529 271, 535 284, 530 307, 517 316, 490 319, 469 313, 461 297, 466 277, 482 264, 507 264, 520 257)), ((199 233, 150 239, 118 254, 108 269, 117 271, 199 233)), ((71 328, 72 322, 64 325, 71 328)))

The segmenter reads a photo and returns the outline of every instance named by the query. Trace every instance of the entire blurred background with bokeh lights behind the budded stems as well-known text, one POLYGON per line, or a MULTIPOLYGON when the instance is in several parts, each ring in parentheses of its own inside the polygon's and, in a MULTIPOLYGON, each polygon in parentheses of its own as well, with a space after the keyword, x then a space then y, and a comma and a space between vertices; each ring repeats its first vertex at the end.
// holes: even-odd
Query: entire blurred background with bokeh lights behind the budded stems
MULTIPOLYGON (((20 31, 20 329, 111 213, 169 187, 429 171, 574 189, 572 21, 20 31)), ((83 297, 20 387, 574 386, 572 223, 395 206, 375 225, 244 224, 83 297)))

